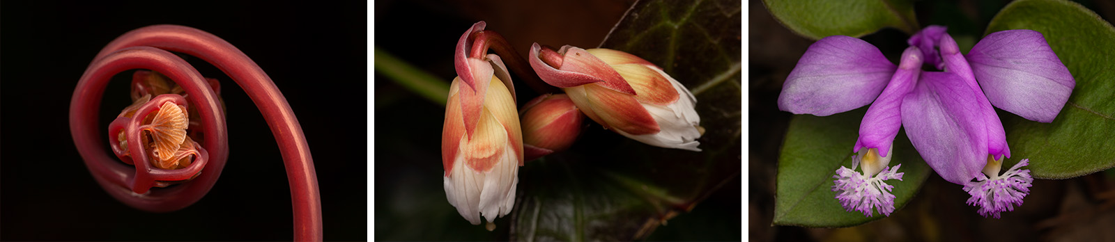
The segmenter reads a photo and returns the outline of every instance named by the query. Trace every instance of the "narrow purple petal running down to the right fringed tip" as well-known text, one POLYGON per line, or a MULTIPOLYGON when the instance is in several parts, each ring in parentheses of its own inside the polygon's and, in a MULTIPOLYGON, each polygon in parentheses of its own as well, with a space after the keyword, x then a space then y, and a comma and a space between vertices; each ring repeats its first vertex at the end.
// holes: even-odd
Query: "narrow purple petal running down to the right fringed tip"
POLYGON ((991 108, 987 97, 982 95, 983 91, 976 82, 976 75, 972 74, 971 67, 968 65, 964 56, 960 53, 957 41, 946 33, 941 37, 940 48, 944 70, 956 73, 964 80, 969 88, 976 90, 980 112, 983 113, 983 121, 987 122, 987 152, 995 155, 996 159, 1001 159, 1004 155, 1009 158, 1010 148, 1007 145, 1007 132, 1002 130, 1002 121, 999 120, 999 114, 995 112, 995 108, 991 108))

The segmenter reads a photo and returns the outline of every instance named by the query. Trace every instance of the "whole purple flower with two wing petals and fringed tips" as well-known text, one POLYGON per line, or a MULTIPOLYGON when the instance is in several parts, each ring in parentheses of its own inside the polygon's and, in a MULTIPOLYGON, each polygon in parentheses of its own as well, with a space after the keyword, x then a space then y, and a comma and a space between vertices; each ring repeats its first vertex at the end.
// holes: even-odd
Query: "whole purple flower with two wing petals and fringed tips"
MULTIPOLYGON (((980 214, 998 218, 1020 205, 1032 182, 1029 171, 1019 169, 1028 160, 998 175, 1010 149, 992 107, 1051 122, 1075 85, 1068 69, 1031 30, 988 34, 968 56, 944 27, 927 27, 908 43, 895 67, 863 40, 827 37, 811 46, 787 77, 778 97, 785 111, 830 115, 871 103, 853 147, 861 155, 834 175, 836 199, 867 216, 872 208, 885 215, 893 211, 894 196, 886 192, 892 186, 882 183, 890 177, 873 175, 888 170, 894 137, 905 127, 918 153, 941 178, 964 185, 980 214), (921 71, 923 63, 943 72, 921 71), (885 162, 864 162, 860 174, 854 169, 861 160, 885 162)), ((891 177, 894 170, 898 165, 891 177)))

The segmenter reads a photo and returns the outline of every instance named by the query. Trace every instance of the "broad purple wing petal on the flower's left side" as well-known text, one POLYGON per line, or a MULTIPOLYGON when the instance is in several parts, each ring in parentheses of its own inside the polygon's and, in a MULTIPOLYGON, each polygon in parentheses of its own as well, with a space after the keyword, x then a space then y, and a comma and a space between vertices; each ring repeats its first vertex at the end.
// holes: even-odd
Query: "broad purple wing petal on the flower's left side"
POLYGON ((896 68, 866 41, 825 37, 809 46, 789 72, 778 109, 831 115, 866 105, 883 91, 896 68))

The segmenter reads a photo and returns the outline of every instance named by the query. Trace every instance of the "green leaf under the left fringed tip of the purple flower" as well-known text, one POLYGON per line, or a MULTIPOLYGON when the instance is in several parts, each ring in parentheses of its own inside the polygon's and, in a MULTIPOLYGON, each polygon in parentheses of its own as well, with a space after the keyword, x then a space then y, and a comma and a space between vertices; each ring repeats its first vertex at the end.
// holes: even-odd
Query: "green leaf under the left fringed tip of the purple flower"
MULTIPOLYGON (((870 218, 857 211, 847 212, 832 191, 836 169, 852 168, 852 147, 866 110, 830 117, 794 115, 778 158, 774 224, 840 228, 885 218, 878 211, 870 218)), ((894 185, 892 194, 898 212, 918 193, 932 170, 904 133, 894 138, 893 155, 890 165, 902 164, 899 172, 905 173, 902 181, 886 181, 894 185)))

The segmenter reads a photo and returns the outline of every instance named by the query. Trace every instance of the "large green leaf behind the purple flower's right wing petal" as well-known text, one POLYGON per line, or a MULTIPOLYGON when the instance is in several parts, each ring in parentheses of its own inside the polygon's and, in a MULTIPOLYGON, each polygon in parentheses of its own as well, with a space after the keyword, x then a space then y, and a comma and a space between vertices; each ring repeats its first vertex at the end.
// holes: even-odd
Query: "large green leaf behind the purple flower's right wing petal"
POLYGON ((1095 12, 1063 0, 1021 0, 991 20, 987 33, 1041 32, 1076 79, 1068 103, 1051 123, 999 112, 1010 143, 1010 165, 1030 159, 1035 178, 1068 179, 1115 167, 1115 28, 1095 12))

